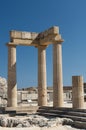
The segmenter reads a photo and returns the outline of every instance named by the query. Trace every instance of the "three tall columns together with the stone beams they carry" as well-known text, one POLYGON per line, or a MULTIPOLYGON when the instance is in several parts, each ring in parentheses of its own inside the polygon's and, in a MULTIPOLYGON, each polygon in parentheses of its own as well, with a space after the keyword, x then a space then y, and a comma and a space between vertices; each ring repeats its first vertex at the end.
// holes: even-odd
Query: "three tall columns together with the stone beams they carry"
POLYGON ((46 47, 53 44, 53 106, 63 105, 62 42, 59 28, 54 26, 41 33, 10 32, 8 46, 8 107, 17 107, 16 47, 38 48, 38 105, 47 106, 46 47))

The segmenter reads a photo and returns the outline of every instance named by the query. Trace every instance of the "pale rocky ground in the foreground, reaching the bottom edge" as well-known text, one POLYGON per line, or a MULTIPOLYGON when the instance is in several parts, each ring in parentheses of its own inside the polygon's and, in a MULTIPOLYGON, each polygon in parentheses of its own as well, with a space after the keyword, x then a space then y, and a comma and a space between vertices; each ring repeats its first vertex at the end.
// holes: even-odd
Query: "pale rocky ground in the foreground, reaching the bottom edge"
MULTIPOLYGON (((40 128, 41 129, 53 129, 63 127, 62 130, 77 130, 72 128, 72 120, 68 118, 45 118, 36 114, 29 114, 22 117, 9 117, 9 116, 0 116, 0 129, 4 128, 40 128)), ((29 129, 28 129, 29 130, 29 129)), ((31 130, 31 129, 30 129, 31 130)), ((54 129, 53 129, 54 130, 54 129)))

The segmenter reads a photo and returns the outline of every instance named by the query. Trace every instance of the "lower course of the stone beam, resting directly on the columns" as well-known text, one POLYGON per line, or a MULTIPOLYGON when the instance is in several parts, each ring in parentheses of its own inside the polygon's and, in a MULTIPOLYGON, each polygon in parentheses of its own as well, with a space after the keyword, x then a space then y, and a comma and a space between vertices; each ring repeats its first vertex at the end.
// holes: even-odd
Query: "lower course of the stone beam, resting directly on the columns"
POLYGON ((48 46, 49 44, 54 44, 57 42, 63 42, 63 39, 61 39, 61 35, 57 36, 48 36, 45 37, 44 39, 35 39, 35 40, 30 40, 30 39, 13 39, 12 42, 9 42, 7 45, 25 45, 25 46, 48 46))

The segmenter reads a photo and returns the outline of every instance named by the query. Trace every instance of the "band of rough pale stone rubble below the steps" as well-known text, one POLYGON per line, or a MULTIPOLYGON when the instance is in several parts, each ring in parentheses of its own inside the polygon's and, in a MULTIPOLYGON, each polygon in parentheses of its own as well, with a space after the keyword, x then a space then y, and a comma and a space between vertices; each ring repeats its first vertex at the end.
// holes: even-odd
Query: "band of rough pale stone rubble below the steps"
POLYGON ((45 118, 39 115, 28 115, 25 119, 18 119, 16 117, 0 117, 1 127, 55 127, 58 125, 70 125, 73 121, 67 118, 45 118))

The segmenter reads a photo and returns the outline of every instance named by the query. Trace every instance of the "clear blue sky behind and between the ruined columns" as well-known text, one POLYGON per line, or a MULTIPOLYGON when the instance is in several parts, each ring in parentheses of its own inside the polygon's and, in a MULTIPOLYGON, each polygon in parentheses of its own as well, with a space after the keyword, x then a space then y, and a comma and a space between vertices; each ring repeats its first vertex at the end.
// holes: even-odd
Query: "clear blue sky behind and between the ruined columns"
MULTIPOLYGON (((7 78, 6 43, 10 30, 41 32, 59 26, 64 42, 63 84, 73 75, 86 82, 86 0, 0 0, 0 76, 7 78)), ((52 86, 52 45, 47 48, 47 85, 52 86)), ((37 86, 37 49, 17 47, 17 84, 37 86)))

